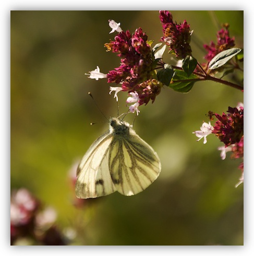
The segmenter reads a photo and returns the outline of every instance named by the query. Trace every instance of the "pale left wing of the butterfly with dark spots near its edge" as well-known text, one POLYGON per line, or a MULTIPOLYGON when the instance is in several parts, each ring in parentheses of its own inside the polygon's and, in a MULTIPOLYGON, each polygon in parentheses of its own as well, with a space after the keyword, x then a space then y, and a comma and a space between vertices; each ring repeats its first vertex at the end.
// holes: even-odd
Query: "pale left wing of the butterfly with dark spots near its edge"
POLYGON ((108 168, 108 155, 113 135, 102 134, 83 156, 78 169, 76 196, 87 199, 108 195, 116 191, 108 168))

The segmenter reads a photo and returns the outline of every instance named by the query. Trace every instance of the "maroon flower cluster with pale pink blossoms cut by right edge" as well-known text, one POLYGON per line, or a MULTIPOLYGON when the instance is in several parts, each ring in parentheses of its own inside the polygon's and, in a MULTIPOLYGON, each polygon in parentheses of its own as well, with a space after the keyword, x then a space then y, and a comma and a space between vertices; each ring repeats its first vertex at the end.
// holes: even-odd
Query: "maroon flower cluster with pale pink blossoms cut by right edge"
MULTIPOLYGON (((232 152, 232 159, 244 159, 244 106, 239 103, 236 108, 228 107, 227 114, 222 115, 209 112, 210 120, 213 120, 213 116, 217 121, 214 126, 209 122, 203 123, 200 127, 200 131, 193 132, 199 137, 204 138, 204 144, 207 143, 207 136, 209 134, 215 134, 216 137, 224 143, 223 146, 218 147, 221 150, 221 158, 226 158, 227 152, 232 152)), ((242 175, 240 181, 236 184, 236 187, 244 182, 244 162, 241 162, 238 169, 241 170, 242 175)))

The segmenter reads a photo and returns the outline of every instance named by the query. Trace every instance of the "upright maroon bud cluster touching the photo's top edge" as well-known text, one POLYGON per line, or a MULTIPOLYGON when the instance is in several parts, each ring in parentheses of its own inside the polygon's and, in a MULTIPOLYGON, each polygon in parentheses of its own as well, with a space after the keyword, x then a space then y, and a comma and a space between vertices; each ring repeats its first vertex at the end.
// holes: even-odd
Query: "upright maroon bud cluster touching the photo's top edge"
POLYGON ((190 39, 192 31, 190 25, 184 20, 183 24, 173 22, 172 14, 167 10, 160 11, 160 19, 163 27, 164 36, 161 41, 165 42, 172 53, 176 54, 178 59, 184 59, 191 55, 190 39))

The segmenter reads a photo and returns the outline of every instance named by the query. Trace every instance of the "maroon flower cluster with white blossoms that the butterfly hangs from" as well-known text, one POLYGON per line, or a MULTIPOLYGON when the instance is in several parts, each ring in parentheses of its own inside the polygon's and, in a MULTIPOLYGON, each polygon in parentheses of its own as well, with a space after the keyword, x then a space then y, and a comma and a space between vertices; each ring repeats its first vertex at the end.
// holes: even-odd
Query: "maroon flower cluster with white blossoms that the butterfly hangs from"
MULTIPOLYGON (((105 43, 107 51, 117 53, 120 57, 120 66, 109 71, 107 74, 100 72, 97 66, 91 71, 89 78, 98 80, 99 78, 107 78, 107 83, 120 84, 120 87, 110 87, 110 94, 114 91, 114 98, 118 100, 117 93, 119 91, 127 91, 129 98, 127 103, 134 103, 129 107, 129 111, 139 113, 138 107, 147 104, 150 100, 154 102, 157 95, 160 94, 162 84, 156 80, 154 71, 155 57, 148 42, 147 34, 141 28, 131 34, 128 30, 123 31, 114 20, 109 20, 112 32, 117 31, 114 41, 105 43)), ((159 59, 161 56, 158 57, 159 59)))

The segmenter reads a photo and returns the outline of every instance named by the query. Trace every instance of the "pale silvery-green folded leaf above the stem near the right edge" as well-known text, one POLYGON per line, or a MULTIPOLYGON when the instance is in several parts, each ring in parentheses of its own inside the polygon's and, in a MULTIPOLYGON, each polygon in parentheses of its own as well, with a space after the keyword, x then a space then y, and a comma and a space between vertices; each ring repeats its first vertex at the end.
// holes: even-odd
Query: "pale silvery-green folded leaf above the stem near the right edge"
POLYGON ((232 48, 218 53, 209 63, 209 69, 223 66, 241 51, 240 48, 232 48))

